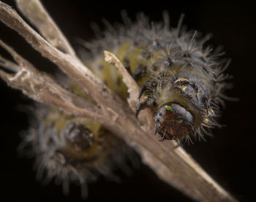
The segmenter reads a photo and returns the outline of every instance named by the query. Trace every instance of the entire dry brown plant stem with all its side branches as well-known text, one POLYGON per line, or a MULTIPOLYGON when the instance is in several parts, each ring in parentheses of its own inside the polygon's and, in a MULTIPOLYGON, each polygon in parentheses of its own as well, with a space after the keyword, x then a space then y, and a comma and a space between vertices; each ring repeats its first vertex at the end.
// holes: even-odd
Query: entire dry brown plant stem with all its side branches
MULTIPOLYGON (((174 141, 159 142, 157 136, 154 136, 152 119, 151 123, 146 123, 144 127, 140 125, 135 114, 129 109, 129 106, 97 79, 78 60, 75 53, 72 53, 72 47, 69 47, 69 43, 58 28, 56 31, 50 33, 54 35, 53 38, 59 41, 58 44, 60 45, 55 45, 56 40, 51 40, 52 37, 45 31, 48 26, 56 28, 53 20, 45 12, 45 9, 42 9, 39 1, 31 1, 34 2, 34 6, 28 6, 24 9, 25 5, 29 4, 26 2, 28 1, 18 1, 18 5, 23 10, 24 15, 39 28, 39 31, 45 36, 46 40, 20 18, 14 9, 0 1, 0 19, 2 22, 17 31, 42 56, 55 63, 67 76, 78 82, 94 98, 97 106, 87 101, 82 101, 72 93, 62 89, 53 79, 34 69, 31 64, 23 60, 23 58, 3 43, 1 45, 14 56, 18 66, 10 61, 1 59, 2 66, 6 66, 7 68, 9 66, 9 69, 15 70, 15 76, 13 77, 13 75, 0 71, 0 77, 10 86, 23 90, 24 93, 37 101, 55 106, 59 104, 61 109, 68 113, 99 121, 110 131, 127 141, 127 144, 135 147, 142 156, 143 161, 148 166, 151 166, 162 180, 173 185, 196 201, 236 201, 217 182, 214 182, 184 149, 181 147, 175 149, 174 141), (31 12, 31 8, 35 10, 31 12), (37 10, 37 15, 31 15, 31 13, 37 13, 37 10), (46 22, 43 20, 44 18, 39 18, 40 16, 46 16, 46 22), (61 44, 66 45, 62 46, 61 44), (42 79, 33 80, 32 77, 26 76, 23 72, 26 75, 33 74, 36 78, 42 77, 42 79), (37 90, 33 90, 34 84, 36 84, 37 90), (45 88, 45 85, 47 88, 45 88)), ((111 54, 109 59, 118 60, 111 54)), ((125 72, 121 74, 127 77, 125 76, 125 72)), ((134 92, 138 91, 137 84, 131 82, 128 87, 131 89, 131 101, 138 102, 136 100, 138 94, 134 94, 134 92)), ((132 107, 134 107, 133 104, 132 107)), ((146 113, 148 113, 148 117, 151 117, 150 112, 146 113)))

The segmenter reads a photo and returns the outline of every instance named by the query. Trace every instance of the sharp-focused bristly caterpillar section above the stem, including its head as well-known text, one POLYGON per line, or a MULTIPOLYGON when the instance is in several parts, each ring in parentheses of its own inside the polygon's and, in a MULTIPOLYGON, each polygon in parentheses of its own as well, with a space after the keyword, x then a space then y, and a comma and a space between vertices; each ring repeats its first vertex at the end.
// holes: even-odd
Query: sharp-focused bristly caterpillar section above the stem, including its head
POLYGON ((121 78, 104 61, 103 50, 114 53, 140 85, 140 110, 149 107, 154 112, 155 133, 164 139, 203 138, 206 128, 218 124, 223 92, 227 87, 223 70, 228 62, 220 61, 221 53, 211 53, 203 47, 208 36, 199 39, 197 31, 185 31, 181 23, 169 28, 167 23, 150 23, 140 15, 138 23, 129 20, 126 26, 109 27, 105 37, 85 46, 89 50, 84 63, 119 96, 127 91, 121 78), (93 44, 93 45, 92 45, 93 44))

